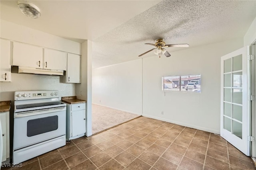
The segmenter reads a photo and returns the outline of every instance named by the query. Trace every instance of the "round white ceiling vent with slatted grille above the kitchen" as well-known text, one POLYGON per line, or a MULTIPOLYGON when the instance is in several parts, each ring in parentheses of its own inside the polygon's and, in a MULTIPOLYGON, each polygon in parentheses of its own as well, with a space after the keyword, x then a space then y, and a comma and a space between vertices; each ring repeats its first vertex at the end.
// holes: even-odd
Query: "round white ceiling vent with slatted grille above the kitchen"
POLYGON ((41 16, 39 8, 34 4, 32 4, 31 2, 22 0, 18 2, 17 6, 22 12, 22 14, 24 14, 25 16, 28 16, 34 19, 41 16))

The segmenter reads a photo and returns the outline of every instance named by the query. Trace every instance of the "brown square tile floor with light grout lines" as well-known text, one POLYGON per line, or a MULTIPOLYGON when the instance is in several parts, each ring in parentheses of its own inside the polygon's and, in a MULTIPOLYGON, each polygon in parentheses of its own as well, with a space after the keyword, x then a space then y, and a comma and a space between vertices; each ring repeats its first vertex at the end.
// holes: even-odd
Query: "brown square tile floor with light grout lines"
POLYGON ((23 162, 19 169, 254 170, 255 167, 250 157, 218 135, 138 117, 91 137, 72 140, 64 147, 23 162))

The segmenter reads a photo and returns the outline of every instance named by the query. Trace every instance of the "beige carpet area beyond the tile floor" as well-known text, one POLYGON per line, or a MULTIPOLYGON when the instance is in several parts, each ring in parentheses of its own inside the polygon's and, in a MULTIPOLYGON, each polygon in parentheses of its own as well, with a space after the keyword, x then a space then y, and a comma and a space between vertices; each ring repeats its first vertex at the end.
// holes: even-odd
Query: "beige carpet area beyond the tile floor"
POLYGON ((92 104, 92 134, 114 127, 140 115, 92 104))

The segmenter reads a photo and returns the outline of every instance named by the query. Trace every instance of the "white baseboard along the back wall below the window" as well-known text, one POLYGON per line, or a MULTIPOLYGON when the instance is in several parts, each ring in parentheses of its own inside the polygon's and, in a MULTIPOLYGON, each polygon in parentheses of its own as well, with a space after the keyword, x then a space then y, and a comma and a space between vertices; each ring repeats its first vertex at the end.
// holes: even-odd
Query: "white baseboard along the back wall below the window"
POLYGON ((152 119, 161 120, 161 121, 166 121, 166 122, 169 122, 169 123, 175 123, 177 125, 191 127, 191 128, 198 129, 198 130, 201 130, 201 131, 206 131, 206 132, 215 133, 215 134, 220 135, 220 131, 216 131, 216 130, 213 130, 213 129, 208 129, 208 128, 205 128, 205 127, 200 127, 200 126, 196 126, 196 125, 190 125, 190 124, 179 122, 179 121, 172 121, 170 119, 164 119, 162 117, 156 117, 156 116, 147 115, 147 114, 142 114, 142 116, 149 117, 149 118, 152 118, 152 119))

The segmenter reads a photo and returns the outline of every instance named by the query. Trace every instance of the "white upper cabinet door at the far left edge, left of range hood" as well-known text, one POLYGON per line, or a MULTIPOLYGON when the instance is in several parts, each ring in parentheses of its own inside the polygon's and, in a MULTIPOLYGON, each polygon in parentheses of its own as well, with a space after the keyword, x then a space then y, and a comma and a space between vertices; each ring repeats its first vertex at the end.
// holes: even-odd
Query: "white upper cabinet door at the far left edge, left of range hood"
POLYGON ((11 81, 10 41, 0 39, 0 81, 11 81))

